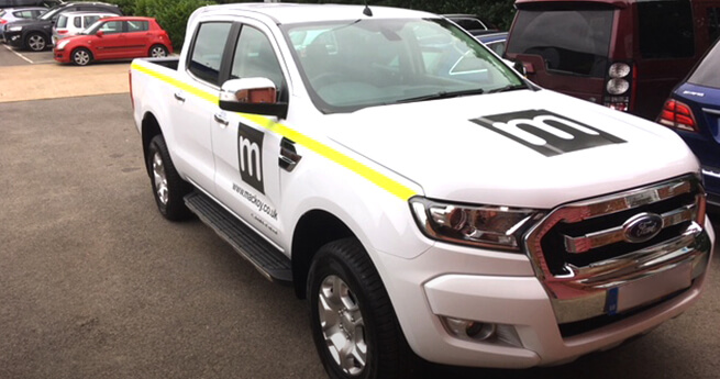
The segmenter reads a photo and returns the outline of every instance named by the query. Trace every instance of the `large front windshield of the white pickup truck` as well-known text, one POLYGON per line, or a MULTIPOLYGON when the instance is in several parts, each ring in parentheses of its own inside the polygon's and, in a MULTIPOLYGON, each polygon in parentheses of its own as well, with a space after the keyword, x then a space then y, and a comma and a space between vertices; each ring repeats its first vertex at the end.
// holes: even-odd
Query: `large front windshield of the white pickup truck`
POLYGON ((283 26, 315 107, 324 113, 527 88, 444 19, 373 19, 283 26))

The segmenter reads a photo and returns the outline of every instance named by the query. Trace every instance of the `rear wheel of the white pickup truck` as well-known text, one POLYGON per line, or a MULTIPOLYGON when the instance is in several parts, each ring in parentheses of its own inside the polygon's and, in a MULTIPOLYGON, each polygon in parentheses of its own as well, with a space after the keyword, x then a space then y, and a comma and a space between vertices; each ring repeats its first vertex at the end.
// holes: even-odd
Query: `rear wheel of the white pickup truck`
POLYGON ((156 135, 147 148, 147 169, 157 209, 167 220, 181 221, 192 213, 182 199, 192 189, 180 178, 167 151, 163 135, 156 135))

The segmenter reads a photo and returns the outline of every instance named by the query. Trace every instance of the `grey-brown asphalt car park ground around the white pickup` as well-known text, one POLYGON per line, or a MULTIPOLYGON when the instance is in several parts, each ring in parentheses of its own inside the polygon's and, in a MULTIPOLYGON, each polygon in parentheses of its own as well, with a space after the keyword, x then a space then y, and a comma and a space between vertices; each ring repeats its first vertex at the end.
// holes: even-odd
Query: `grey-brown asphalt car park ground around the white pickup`
MULTIPOLYGON (((86 80, 8 55, 0 46, 0 91, 23 91, 7 73, 86 80)), ((93 78, 119 80, 114 69, 93 78)), ((0 101, 0 378, 324 378, 306 302, 200 222, 157 213, 128 93, 63 96, 0 101)), ((425 372, 719 378, 717 252, 712 269, 683 316, 612 350, 553 368, 425 372)))

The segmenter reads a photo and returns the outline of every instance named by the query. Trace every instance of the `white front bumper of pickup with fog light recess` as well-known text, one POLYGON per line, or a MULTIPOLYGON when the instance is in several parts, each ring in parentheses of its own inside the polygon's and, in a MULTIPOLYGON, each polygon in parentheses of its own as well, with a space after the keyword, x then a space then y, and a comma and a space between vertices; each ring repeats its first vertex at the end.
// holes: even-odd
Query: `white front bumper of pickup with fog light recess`
MULTIPOLYGON (((690 246, 668 252, 668 255, 685 256, 687 260, 680 260, 694 268, 689 287, 651 292, 622 312, 568 324, 558 322, 555 299, 551 299, 533 276, 525 256, 435 246, 411 261, 385 254, 383 259, 388 272, 392 272, 388 276, 392 278, 388 288, 396 313, 418 355, 454 366, 528 368, 565 364, 612 348, 683 313, 699 298, 713 242, 712 226, 706 222, 705 230, 690 246), (524 263, 518 258, 524 258, 524 263), (468 272, 474 269, 484 272, 468 272), (439 271, 456 274, 432 275, 439 271), (459 338, 448 332, 444 317, 495 324, 498 331, 509 332, 516 338, 459 338)), ((689 272, 685 268, 679 271, 689 272)), ((645 280, 654 278, 655 283, 662 282, 676 274, 668 269, 645 280)), ((612 293, 612 288, 605 293, 612 293)))

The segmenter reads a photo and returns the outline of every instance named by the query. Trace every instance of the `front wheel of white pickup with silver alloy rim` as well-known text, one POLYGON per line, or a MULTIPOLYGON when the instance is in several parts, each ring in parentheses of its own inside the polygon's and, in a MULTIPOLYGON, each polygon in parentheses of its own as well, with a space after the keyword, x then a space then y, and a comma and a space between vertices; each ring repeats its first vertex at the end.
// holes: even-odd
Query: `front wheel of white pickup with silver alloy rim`
POLYGON ((387 291, 357 239, 321 247, 307 289, 313 339, 331 378, 417 377, 387 291))

